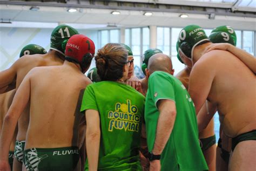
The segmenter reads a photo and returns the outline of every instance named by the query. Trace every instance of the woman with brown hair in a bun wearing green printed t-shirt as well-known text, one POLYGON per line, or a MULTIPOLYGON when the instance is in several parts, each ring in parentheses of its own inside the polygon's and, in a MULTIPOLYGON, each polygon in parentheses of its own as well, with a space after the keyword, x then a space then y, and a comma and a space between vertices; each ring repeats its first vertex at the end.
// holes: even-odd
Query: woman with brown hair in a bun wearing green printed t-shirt
POLYGON ((145 98, 125 84, 127 50, 106 44, 95 57, 102 81, 86 87, 80 111, 86 117, 85 170, 142 170, 139 146, 145 98))

